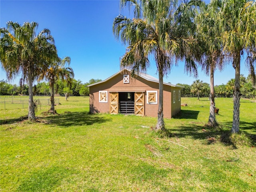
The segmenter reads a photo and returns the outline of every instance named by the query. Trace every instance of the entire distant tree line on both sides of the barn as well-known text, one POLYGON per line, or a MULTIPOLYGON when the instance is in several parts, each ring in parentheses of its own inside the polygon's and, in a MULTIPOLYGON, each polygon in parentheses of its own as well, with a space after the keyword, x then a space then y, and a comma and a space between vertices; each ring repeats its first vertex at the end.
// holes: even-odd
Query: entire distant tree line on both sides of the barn
MULTIPOLYGON (((56 83, 55 94, 64 96, 66 92, 70 92, 71 96, 89 96, 89 88, 87 85, 101 81, 101 79, 90 79, 89 82, 82 83, 81 80, 72 79, 71 88, 67 87, 66 82, 58 80, 56 83), (67 90, 68 89, 68 90, 67 90)), ((180 84, 184 86, 181 89, 182 97, 209 97, 210 84, 200 80, 194 81, 191 85, 180 84)), ((216 97, 232 97, 234 90, 234 79, 230 79, 227 84, 214 86, 216 97)), ((246 78, 240 76, 240 91, 243 98, 256 98, 256 87, 253 86, 250 75, 246 78)), ((40 82, 33 86, 34 95, 50 96, 50 86, 48 82, 40 82)), ((0 81, 0 95, 28 95, 28 86, 26 84, 17 86, 9 84, 6 80, 0 81)))

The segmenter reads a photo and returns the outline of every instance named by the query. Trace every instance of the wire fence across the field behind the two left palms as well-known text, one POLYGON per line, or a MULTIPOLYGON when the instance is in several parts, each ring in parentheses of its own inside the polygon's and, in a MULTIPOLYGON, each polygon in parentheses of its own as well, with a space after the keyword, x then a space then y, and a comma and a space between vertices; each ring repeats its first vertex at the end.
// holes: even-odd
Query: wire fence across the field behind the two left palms
MULTIPOLYGON (((34 102, 38 100, 42 106, 47 106, 51 104, 50 99, 42 99, 42 98, 34 98, 34 102)), ((0 101, 0 109, 1 110, 6 110, 6 109, 20 109, 20 108, 28 108, 28 99, 20 98, 14 98, 14 97, 9 97, 9 98, 1 98, 0 101)), ((60 104, 60 99, 56 98, 54 99, 54 104, 60 104)))

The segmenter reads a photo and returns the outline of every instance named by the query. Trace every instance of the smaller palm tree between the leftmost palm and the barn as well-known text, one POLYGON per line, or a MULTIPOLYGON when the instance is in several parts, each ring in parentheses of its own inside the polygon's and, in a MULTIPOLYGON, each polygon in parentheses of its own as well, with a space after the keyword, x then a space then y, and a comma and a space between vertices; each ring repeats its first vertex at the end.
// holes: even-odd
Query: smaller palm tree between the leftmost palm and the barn
MULTIPOLYGON (((38 80, 46 79, 49 81, 49 86, 51 89, 51 108, 49 112, 56 113, 54 109, 54 86, 55 83, 60 79, 66 81, 69 86, 71 86, 72 79, 74 78, 73 69, 69 67, 70 57, 65 57, 64 59, 58 58, 56 62, 53 62, 49 68, 44 71, 38 80)), ((58 89, 58 87, 57 87, 58 89)))

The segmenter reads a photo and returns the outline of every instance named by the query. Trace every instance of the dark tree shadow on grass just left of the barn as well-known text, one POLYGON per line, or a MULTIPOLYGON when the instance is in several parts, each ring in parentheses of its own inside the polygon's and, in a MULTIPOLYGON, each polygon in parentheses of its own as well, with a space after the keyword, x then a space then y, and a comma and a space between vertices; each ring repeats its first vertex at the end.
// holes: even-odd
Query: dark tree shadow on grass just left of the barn
POLYGON ((66 112, 60 116, 48 116, 45 119, 49 120, 50 124, 61 127, 100 124, 112 120, 89 112, 66 112))

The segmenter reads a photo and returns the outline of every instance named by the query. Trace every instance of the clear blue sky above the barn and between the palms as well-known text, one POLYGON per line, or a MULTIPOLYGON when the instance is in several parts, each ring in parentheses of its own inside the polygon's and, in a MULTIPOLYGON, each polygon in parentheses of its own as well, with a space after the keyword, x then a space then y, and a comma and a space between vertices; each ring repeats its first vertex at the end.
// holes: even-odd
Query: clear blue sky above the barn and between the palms
MULTIPOLYGON (((0 0, 0 27, 13 21, 38 22, 37 33, 48 28, 54 37, 58 56, 70 56, 75 79, 82 83, 91 78, 106 79, 120 70, 120 57, 125 53, 125 46, 114 38, 113 20, 118 14, 128 15, 119 9, 118 0, 0 0)), ((154 60, 147 74, 158 78, 154 60)), ((248 70, 241 61, 241 74, 248 76, 248 70)), ((226 84, 234 78, 235 71, 227 65, 220 73, 215 72, 214 84, 226 84)), ((6 79, 2 68, 0 80, 6 79)), ((198 79, 210 83, 210 78, 199 69, 198 79)), ((184 63, 179 62, 164 78, 164 82, 173 84, 192 84, 195 78, 184 73, 184 63)), ((18 84, 19 78, 10 81, 18 84)))

